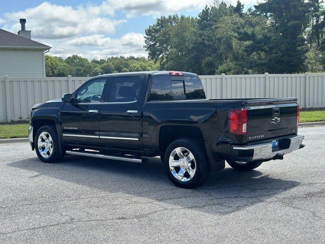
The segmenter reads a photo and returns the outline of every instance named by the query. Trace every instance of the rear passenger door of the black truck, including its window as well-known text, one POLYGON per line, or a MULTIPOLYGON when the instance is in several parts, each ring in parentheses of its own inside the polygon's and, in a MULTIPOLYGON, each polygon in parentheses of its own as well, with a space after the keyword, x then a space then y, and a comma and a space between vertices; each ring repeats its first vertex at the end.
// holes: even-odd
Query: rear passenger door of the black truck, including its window
POLYGON ((145 97, 144 75, 112 76, 100 119, 101 144, 113 148, 140 147, 140 116, 145 97), (141 99, 140 99, 141 98, 141 99))

